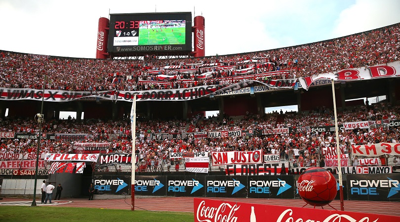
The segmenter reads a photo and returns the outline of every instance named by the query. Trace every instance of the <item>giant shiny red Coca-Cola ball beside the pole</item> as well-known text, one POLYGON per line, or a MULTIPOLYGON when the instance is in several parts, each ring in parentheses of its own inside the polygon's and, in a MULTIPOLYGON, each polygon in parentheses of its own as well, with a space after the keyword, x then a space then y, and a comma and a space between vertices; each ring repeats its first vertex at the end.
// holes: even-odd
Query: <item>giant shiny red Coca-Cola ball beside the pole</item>
POLYGON ((300 197, 312 206, 324 206, 336 197, 336 179, 320 167, 305 170, 297 181, 300 197))

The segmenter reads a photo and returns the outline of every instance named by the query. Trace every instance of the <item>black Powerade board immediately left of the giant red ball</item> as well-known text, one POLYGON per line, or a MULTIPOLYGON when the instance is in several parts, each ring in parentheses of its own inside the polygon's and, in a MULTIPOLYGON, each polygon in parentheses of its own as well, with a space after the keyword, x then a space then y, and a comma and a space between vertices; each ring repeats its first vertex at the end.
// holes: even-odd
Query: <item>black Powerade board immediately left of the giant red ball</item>
POLYGON ((248 198, 293 199, 293 176, 248 177, 248 198))

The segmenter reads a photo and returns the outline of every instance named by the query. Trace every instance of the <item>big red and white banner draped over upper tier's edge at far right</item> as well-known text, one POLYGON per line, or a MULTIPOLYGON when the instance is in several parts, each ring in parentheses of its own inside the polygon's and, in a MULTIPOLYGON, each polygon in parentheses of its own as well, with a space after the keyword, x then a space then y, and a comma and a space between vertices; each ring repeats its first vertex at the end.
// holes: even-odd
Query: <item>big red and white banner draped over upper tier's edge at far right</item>
POLYGON ((379 78, 399 77, 400 62, 387 63, 385 65, 370 66, 357 69, 346 69, 334 73, 315 74, 308 77, 300 77, 301 86, 308 90, 310 85, 319 79, 334 79, 335 81, 354 81, 379 78))

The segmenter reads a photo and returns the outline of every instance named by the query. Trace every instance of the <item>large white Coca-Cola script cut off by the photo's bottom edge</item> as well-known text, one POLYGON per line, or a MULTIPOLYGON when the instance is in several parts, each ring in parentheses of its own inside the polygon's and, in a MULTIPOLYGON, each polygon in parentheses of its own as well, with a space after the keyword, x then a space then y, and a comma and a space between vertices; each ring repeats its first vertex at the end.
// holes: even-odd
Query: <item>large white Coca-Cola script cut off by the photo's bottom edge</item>
MULTIPOLYGON (((280 214, 277 222, 321 221, 321 220, 302 219, 302 218, 295 219, 295 218, 292 217, 292 214, 293 214, 293 210, 292 209, 287 209, 287 210, 283 211, 280 214)), ((360 219, 359 221, 357 221, 357 219, 354 219, 353 217, 351 217, 349 215, 346 215, 346 214, 332 214, 332 215, 326 217, 321 222, 340 222, 340 221, 342 221, 342 219, 343 219, 343 221, 345 221, 344 219, 346 219, 346 221, 349 221, 349 222, 369 222, 369 218, 368 217, 364 217, 364 218, 360 219)), ((371 221, 371 222, 377 222, 378 220, 379 220, 379 218, 376 219, 375 221, 371 221)))

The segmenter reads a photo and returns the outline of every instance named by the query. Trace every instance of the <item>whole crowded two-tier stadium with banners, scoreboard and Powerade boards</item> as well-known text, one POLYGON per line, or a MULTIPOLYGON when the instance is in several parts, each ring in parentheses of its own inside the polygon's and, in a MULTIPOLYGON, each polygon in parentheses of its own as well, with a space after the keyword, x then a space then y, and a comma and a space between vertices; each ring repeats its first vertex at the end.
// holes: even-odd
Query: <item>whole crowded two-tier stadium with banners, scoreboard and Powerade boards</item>
POLYGON ((318 166, 345 200, 399 202, 400 23, 205 57, 188 14, 111 14, 109 33, 101 18, 96 59, 0 51, 0 195, 39 200, 45 180, 118 199, 134 171, 142 196, 294 200, 318 166), (282 106, 297 110, 265 111, 282 106))

